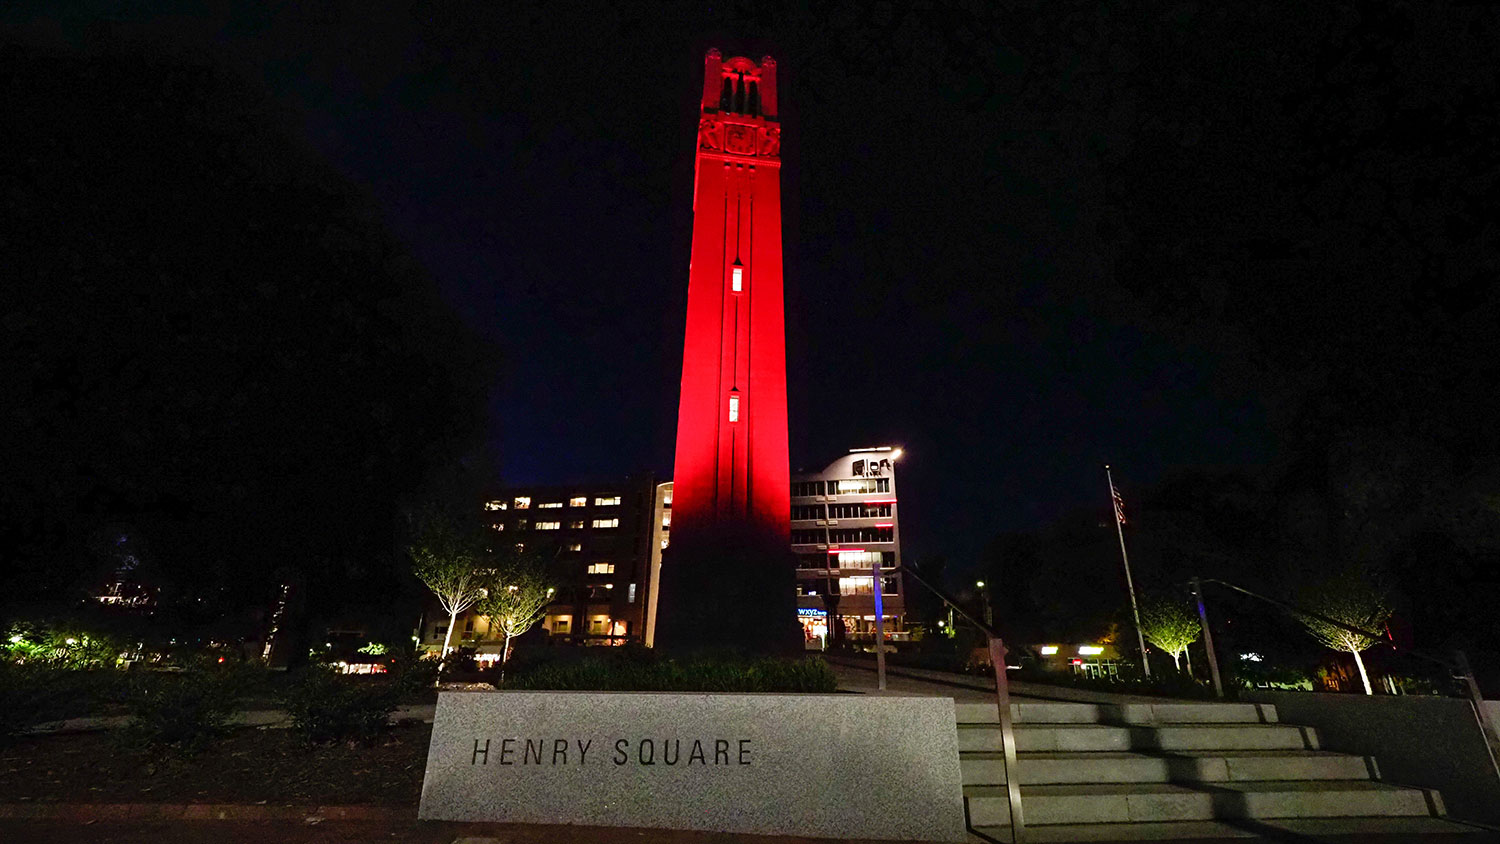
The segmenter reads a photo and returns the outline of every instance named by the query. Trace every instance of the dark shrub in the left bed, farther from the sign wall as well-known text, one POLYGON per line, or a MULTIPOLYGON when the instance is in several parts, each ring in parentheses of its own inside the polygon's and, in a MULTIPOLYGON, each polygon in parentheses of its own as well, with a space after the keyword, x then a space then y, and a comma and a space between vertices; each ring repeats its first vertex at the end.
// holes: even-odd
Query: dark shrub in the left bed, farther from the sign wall
POLYGON ((198 753, 230 730, 250 678, 236 669, 198 669, 132 678, 126 739, 198 753))

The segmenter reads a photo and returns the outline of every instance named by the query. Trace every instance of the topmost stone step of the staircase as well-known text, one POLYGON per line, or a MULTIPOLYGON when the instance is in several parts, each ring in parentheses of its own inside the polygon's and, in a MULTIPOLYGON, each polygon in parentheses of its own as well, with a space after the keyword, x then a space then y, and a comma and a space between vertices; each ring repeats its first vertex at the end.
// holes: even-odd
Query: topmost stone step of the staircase
MULTIPOLYGON (((960 724, 994 724, 994 703, 956 702, 960 724)), ((1274 724, 1269 703, 1011 703, 1017 724, 1274 724)))

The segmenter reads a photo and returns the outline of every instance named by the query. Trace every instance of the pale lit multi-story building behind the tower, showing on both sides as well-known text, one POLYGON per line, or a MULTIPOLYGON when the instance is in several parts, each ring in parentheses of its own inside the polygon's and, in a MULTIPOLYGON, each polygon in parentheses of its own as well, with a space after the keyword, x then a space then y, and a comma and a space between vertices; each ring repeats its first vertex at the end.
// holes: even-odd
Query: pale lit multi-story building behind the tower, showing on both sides
MULTIPOLYGON (((826 648, 838 625, 850 642, 874 639, 874 565, 888 639, 904 633, 902 534, 896 502, 900 448, 855 448, 822 472, 792 475, 792 552, 796 555, 796 615, 808 649, 826 648), (830 619, 832 622, 830 624, 830 619)), ((672 483, 657 487, 651 580, 660 577, 670 543, 672 483)), ((656 594, 646 604, 646 645, 654 643, 656 594)))

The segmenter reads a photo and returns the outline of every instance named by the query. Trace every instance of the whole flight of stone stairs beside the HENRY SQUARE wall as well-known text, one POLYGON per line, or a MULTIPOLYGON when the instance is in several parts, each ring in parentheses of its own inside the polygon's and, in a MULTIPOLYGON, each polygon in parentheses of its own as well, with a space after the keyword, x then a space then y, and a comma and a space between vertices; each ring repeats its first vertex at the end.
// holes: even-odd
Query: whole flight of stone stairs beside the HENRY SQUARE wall
MULTIPOLYGON (((956 702, 969 826, 1010 841, 993 703, 956 702)), ((1256 703, 1012 703, 1028 841, 1476 831, 1256 703)))

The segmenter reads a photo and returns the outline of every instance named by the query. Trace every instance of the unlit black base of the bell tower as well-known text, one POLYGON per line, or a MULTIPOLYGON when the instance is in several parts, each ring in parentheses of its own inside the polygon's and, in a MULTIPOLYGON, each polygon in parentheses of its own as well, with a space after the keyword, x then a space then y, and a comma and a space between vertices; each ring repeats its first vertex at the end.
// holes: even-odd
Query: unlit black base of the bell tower
POLYGON ((662 556, 656 648, 802 655, 795 567, 776 535, 732 526, 674 535, 662 556))

